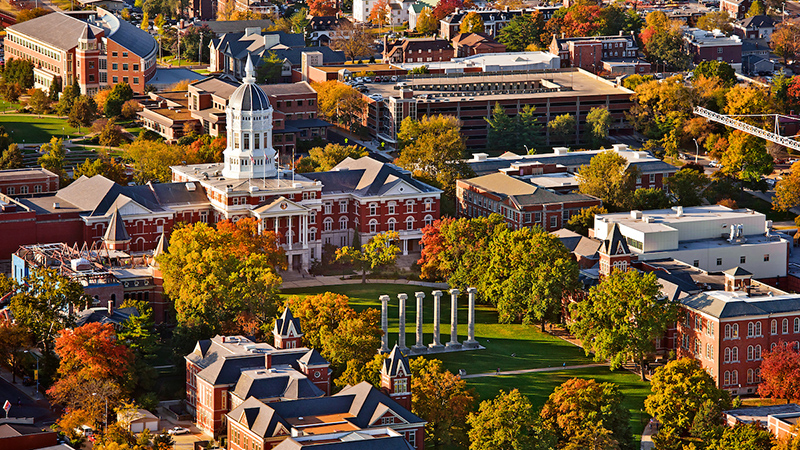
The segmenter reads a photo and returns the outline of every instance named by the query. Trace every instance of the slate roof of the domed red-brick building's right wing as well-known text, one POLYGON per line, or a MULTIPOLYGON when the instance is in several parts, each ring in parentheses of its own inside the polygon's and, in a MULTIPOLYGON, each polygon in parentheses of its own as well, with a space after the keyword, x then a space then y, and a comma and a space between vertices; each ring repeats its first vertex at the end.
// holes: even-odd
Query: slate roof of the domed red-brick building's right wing
POLYGON ((419 192, 441 192, 433 186, 415 180, 411 174, 394 164, 383 163, 369 156, 346 158, 327 172, 302 174, 321 181, 322 192, 352 192, 360 196, 381 195, 400 183, 407 183, 419 192))

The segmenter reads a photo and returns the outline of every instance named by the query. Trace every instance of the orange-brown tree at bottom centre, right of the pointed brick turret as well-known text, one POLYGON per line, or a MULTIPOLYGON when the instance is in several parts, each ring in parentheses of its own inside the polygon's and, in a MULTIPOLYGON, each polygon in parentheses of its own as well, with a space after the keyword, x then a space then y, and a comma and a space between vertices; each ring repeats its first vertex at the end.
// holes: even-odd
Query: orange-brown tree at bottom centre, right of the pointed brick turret
POLYGON ((442 367, 438 359, 411 360, 411 411, 425 424, 425 437, 435 448, 467 443, 467 417, 475 394, 467 382, 442 367))

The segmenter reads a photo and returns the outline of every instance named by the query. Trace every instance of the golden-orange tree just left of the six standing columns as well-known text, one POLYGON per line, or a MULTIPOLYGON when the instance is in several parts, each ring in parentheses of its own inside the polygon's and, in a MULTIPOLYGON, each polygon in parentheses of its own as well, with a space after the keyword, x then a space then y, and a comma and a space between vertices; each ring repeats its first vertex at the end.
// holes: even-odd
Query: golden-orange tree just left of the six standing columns
MULTIPOLYGON (((286 307, 300 320, 303 344, 330 361, 335 375, 352 365, 373 364, 374 368, 375 349, 380 347, 383 335, 377 309, 356 312, 348 303, 346 296, 332 292, 286 301, 286 307)), ((348 376, 353 375, 352 370, 348 376)))

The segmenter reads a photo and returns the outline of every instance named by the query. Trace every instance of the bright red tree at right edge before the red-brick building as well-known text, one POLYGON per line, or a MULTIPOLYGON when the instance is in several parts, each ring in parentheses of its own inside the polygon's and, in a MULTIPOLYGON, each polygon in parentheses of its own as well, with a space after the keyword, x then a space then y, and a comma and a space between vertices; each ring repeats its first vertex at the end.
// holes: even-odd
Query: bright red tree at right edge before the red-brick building
POLYGON ((758 395, 800 400, 800 352, 797 347, 779 342, 764 356, 761 378, 763 381, 758 385, 758 395))

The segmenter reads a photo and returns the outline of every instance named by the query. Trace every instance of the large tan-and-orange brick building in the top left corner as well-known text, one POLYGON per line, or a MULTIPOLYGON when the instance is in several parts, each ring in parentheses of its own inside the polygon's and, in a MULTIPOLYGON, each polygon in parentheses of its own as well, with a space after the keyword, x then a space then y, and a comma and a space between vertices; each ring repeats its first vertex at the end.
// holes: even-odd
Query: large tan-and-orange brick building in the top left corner
POLYGON ((39 89, 60 78, 63 86, 78 83, 86 95, 118 83, 142 93, 156 72, 156 40, 102 8, 55 12, 6 31, 5 57, 32 61, 39 89))

